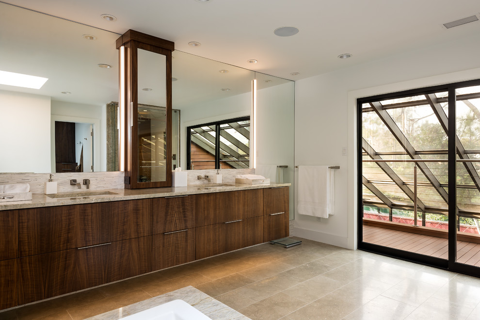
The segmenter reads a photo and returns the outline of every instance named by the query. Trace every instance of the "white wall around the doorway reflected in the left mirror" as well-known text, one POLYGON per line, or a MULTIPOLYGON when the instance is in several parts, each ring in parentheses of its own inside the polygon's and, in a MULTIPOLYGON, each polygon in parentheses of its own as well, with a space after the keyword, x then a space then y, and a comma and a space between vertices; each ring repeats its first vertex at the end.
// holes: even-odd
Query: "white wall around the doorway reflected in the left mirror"
MULTIPOLYGON (((52 121, 68 121, 94 124, 94 171, 107 171, 107 119, 106 106, 94 106, 79 103, 51 102, 52 121)), ((52 128, 52 137, 54 137, 52 128)), ((52 150, 52 159, 54 150, 52 150)), ((52 172, 54 170, 52 163, 52 172)))

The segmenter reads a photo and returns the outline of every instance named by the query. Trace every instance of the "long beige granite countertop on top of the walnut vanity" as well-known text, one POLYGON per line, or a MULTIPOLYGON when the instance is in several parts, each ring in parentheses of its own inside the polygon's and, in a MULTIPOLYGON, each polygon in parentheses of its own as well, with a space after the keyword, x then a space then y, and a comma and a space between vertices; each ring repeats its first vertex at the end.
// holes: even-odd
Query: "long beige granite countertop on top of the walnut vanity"
MULTIPOLYGON (((150 188, 150 189, 108 189, 108 190, 81 190, 81 194, 88 192, 113 192, 115 194, 104 194, 104 195, 88 195, 88 196, 76 196, 76 197, 65 197, 65 198, 50 198, 45 194, 33 193, 32 200, 27 201, 11 201, 11 202, 2 202, 0 203, 0 210, 14 210, 14 209, 24 209, 24 208, 42 208, 42 207, 54 207, 54 206, 66 206, 66 205, 77 205, 85 203, 95 203, 95 202, 108 202, 108 201, 120 201, 120 200, 133 200, 133 199, 146 199, 146 198, 157 198, 157 197, 169 197, 169 196, 178 196, 178 195, 188 195, 188 194, 199 194, 199 193, 211 193, 211 192, 227 192, 227 191, 237 191, 237 190, 250 190, 250 189, 263 189, 263 188, 272 188, 272 187, 286 187, 290 186, 290 183, 280 183, 280 184, 257 184, 257 185, 248 185, 248 184, 221 184, 220 186, 215 186, 214 184, 203 184, 203 185, 189 185, 187 187, 168 187, 168 188, 150 188)), ((64 192, 72 193, 72 192, 64 192)), ((57 193, 62 194, 62 193, 57 193)))

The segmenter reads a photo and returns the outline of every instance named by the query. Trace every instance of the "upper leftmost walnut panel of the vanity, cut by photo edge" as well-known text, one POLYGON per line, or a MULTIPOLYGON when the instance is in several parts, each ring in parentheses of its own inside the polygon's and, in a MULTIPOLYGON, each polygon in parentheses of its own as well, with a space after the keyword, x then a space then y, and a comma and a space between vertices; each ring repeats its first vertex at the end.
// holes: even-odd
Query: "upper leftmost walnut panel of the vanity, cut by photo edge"
POLYGON ((17 256, 18 210, 0 211, 0 260, 17 256))

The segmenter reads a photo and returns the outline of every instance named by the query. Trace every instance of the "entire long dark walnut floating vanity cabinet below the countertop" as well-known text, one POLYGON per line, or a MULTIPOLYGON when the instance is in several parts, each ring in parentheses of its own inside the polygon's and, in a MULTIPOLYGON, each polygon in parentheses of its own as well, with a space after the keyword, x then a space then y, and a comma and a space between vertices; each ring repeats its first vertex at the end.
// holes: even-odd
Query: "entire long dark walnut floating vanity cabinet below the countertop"
POLYGON ((288 187, 0 211, 0 310, 288 236, 288 187))

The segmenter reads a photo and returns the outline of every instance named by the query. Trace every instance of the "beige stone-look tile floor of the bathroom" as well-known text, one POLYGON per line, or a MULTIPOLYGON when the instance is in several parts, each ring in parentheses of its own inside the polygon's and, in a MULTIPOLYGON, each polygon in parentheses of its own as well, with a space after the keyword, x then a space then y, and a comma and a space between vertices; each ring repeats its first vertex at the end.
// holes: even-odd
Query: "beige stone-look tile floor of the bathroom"
POLYGON ((480 279, 303 240, 261 244, 0 312, 80 320, 193 286, 251 319, 480 319, 480 279))

